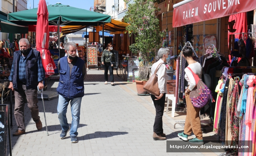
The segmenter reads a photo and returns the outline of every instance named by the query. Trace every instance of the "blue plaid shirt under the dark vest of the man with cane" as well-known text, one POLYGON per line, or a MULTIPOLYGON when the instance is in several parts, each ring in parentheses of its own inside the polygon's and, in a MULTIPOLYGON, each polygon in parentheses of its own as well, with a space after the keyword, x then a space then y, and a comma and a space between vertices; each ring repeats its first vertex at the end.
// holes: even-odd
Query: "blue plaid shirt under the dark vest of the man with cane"
MULTIPOLYGON (((18 70, 19 70, 19 73, 18 73, 18 76, 19 76, 19 80, 17 81, 21 81, 21 82, 24 82, 26 83, 26 57, 23 57, 22 54, 20 56, 20 62, 19 62, 19 66, 18 66, 18 70)), ((44 75, 45 75, 45 70, 44 70, 44 67, 42 65, 42 59, 38 59, 37 60, 37 64, 38 64, 38 73, 37 73, 37 76, 38 76, 38 79, 37 81, 40 82, 40 81, 44 81, 44 75)), ((13 81, 13 64, 12 64, 12 69, 11 69, 11 74, 9 76, 9 80, 12 82, 13 81)))

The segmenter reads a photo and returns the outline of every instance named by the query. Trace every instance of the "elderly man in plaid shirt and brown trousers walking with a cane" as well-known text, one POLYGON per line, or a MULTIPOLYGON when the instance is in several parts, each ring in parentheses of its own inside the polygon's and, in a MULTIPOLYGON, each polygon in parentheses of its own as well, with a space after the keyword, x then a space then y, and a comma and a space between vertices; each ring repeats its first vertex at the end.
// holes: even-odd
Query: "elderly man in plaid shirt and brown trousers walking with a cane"
POLYGON ((14 116, 18 130, 13 136, 25 134, 24 106, 28 101, 32 118, 38 130, 42 129, 42 122, 38 116, 37 87, 44 88, 45 70, 39 51, 33 50, 29 41, 22 38, 19 41, 20 50, 14 52, 9 89, 15 90, 14 116))

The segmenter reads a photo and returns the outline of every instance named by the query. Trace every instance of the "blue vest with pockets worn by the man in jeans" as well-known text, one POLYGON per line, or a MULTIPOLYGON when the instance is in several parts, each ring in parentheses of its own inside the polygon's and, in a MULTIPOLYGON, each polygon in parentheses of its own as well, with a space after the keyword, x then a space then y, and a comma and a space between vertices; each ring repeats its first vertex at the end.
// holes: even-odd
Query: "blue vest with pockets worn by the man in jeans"
POLYGON ((83 66, 84 61, 77 58, 77 62, 71 70, 67 62, 67 56, 59 60, 60 65, 60 78, 59 85, 57 87, 58 94, 61 94, 65 98, 76 98, 84 96, 84 84, 83 84, 83 66))

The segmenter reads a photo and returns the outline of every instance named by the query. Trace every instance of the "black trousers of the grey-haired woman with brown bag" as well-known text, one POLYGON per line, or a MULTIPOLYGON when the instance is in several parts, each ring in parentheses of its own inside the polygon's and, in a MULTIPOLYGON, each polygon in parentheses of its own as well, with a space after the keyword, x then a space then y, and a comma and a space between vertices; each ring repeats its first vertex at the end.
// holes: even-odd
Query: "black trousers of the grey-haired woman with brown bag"
POLYGON ((160 135, 164 132, 162 117, 164 115, 164 108, 165 108, 165 93, 159 100, 155 100, 156 97, 152 94, 150 94, 150 96, 151 96, 152 101, 154 103, 154 106, 156 108, 156 117, 155 117, 155 122, 154 122, 154 132, 157 135, 160 135))

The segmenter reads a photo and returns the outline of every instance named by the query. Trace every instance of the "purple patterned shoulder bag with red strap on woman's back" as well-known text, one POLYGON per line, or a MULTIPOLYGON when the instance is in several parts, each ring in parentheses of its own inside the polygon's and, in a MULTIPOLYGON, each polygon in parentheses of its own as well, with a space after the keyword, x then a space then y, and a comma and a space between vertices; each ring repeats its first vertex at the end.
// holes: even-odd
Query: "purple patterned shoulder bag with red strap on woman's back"
POLYGON ((199 79, 198 75, 196 75, 189 67, 187 68, 193 73, 195 83, 197 84, 196 87, 189 93, 190 101, 194 107, 204 107, 210 102, 212 98, 212 92, 206 86, 206 84, 204 84, 203 81, 199 79))

